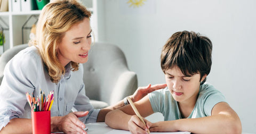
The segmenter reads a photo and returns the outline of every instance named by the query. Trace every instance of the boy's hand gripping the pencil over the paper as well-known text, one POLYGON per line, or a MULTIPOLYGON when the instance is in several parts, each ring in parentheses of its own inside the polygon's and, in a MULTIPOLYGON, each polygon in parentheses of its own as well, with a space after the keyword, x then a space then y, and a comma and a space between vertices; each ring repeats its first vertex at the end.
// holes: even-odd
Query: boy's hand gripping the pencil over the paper
POLYGON ((143 118, 146 125, 138 118, 137 115, 132 115, 131 119, 128 122, 128 127, 131 133, 148 133, 150 126, 152 125, 151 122, 143 118))

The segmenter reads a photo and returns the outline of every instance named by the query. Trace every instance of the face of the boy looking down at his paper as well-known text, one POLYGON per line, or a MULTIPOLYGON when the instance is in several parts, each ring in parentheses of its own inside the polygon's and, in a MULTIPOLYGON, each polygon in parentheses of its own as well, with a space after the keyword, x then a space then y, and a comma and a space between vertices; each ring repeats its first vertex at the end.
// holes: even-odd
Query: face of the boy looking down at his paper
POLYGON ((199 73, 184 76, 179 67, 175 66, 165 71, 165 81, 175 101, 186 104, 196 102, 201 81, 199 73))

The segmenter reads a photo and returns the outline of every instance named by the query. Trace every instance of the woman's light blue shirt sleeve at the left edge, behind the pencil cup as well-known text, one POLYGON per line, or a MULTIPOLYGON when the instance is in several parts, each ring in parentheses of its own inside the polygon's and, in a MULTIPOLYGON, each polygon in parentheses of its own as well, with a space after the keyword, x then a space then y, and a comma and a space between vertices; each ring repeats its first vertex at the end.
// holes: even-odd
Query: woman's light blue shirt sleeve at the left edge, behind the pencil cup
POLYGON ((35 55, 21 52, 6 64, 0 86, 0 130, 25 112, 25 106, 28 106, 26 92, 34 91, 37 69, 41 68, 37 64, 39 61, 35 55))

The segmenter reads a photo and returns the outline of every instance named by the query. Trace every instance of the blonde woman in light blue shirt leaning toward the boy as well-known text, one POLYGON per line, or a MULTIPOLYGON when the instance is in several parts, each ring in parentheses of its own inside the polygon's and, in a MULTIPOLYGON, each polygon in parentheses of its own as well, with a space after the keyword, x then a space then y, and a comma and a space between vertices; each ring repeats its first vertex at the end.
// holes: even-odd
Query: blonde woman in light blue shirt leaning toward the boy
MULTIPOLYGON (((54 91, 52 132, 86 133, 84 123, 105 121, 109 111, 124 106, 120 101, 95 110, 85 95, 80 63, 87 62, 91 48, 90 16, 91 13, 74 0, 52 1, 44 6, 36 38, 30 41, 32 46, 6 64, 0 87, 0 133, 32 133, 26 93, 39 96, 40 89, 46 95, 54 91), (81 112, 70 113, 72 107, 81 112)), ((165 86, 138 88, 131 97, 138 101, 148 92, 165 86)))

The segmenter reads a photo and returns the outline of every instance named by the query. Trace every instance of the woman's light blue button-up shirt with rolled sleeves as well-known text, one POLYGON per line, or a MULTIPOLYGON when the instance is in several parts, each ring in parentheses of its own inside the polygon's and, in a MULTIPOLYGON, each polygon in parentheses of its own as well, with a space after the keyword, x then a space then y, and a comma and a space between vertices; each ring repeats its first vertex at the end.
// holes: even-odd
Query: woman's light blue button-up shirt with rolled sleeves
POLYGON ((85 95, 83 65, 79 64, 78 71, 74 72, 70 68, 68 64, 65 75, 56 84, 51 81, 36 47, 28 47, 15 55, 5 66, 0 86, 0 130, 13 118, 31 118, 26 93, 37 97, 40 89, 46 96, 54 91, 51 116, 67 115, 74 107, 77 111, 89 111, 87 116, 79 118, 81 121, 96 122, 100 110, 95 110, 85 95))

